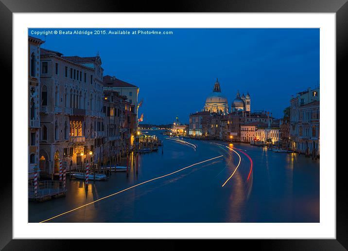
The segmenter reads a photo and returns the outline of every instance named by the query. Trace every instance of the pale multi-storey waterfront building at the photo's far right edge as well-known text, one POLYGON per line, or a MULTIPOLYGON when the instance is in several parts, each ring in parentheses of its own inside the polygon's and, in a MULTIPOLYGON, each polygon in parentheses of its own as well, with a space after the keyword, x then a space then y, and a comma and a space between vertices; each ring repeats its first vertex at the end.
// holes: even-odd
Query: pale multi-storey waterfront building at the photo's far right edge
POLYGON ((320 101, 300 106, 298 112, 296 150, 306 155, 320 155, 320 101))

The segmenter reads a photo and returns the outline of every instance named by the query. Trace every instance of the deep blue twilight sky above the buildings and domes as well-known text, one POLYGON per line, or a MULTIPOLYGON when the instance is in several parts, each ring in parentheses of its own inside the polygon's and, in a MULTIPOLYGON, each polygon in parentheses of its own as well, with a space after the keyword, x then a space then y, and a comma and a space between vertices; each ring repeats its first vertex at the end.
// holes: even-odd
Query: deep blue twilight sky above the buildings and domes
MULTIPOLYGON (((216 78, 229 109, 237 90, 251 110, 282 117, 291 95, 319 83, 319 29, 97 29, 173 31, 173 35, 29 35, 65 56, 99 51, 104 75, 137 85, 141 124, 169 124, 200 111, 216 78)), ((82 30, 82 29, 76 29, 82 30)), ((83 29, 93 32, 96 29, 83 29)))

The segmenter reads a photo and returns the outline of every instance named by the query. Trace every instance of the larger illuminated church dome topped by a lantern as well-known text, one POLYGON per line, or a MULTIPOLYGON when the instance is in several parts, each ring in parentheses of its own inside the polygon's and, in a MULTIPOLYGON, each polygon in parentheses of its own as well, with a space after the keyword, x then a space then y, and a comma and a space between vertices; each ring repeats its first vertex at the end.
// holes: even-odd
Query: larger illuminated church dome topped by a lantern
POLYGON ((216 113, 228 113, 227 98, 221 93, 218 79, 216 79, 213 92, 206 99, 204 110, 216 113))

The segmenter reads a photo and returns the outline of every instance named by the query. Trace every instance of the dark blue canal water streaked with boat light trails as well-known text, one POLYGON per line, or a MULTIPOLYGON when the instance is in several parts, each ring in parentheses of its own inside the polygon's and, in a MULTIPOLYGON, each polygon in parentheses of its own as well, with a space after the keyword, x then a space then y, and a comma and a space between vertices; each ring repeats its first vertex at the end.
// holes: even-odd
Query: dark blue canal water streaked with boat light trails
POLYGON ((244 143, 170 138, 159 130, 146 134, 163 140, 163 154, 160 147, 140 155, 138 173, 131 161, 128 177, 112 173, 107 181, 90 180, 87 189, 68 179, 66 197, 29 202, 29 222, 100 198, 47 222, 320 221, 319 160, 244 143))

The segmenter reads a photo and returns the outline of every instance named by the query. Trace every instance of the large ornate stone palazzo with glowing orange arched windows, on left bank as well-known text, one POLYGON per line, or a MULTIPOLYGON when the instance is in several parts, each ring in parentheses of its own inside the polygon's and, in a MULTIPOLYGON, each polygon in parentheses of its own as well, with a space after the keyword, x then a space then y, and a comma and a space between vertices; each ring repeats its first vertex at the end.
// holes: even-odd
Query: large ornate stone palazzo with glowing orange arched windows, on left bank
MULTIPOLYGON (((94 162, 96 132, 104 120, 99 54, 63 56, 40 50, 40 166, 46 175, 94 162), (42 162, 41 162, 42 161, 42 162)), ((40 168, 41 169, 41 168, 40 168)))

